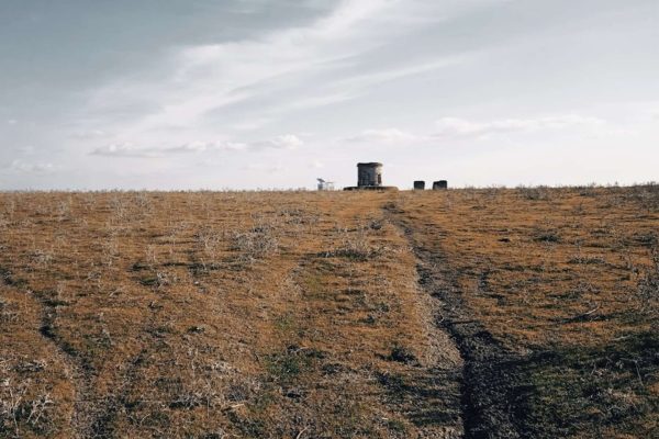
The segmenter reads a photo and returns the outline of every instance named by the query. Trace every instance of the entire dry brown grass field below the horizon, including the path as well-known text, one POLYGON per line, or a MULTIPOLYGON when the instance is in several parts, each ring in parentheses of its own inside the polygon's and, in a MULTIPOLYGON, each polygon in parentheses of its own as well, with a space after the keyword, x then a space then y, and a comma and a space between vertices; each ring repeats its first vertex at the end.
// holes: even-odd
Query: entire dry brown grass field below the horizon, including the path
POLYGON ((0 194, 0 437, 659 437, 659 188, 0 194))

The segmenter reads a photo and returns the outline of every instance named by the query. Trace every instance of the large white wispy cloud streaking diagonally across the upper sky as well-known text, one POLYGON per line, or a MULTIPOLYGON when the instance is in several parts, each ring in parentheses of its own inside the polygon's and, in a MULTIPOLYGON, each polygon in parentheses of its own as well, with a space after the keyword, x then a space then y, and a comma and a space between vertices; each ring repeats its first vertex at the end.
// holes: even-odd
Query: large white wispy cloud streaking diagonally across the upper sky
MULTIPOLYGON (((479 0, 498 1, 502 0, 479 0)), ((388 66, 364 64, 369 50, 418 25, 409 19, 427 19, 421 13, 424 8, 417 0, 342 0, 327 15, 304 26, 258 38, 185 46, 156 66, 155 80, 124 78, 94 91, 90 111, 123 114, 144 108, 143 115, 112 127, 141 143, 171 130, 213 133, 216 121, 238 105, 252 109, 245 114, 249 120, 241 121, 236 130, 258 128, 259 121, 275 124, 289 113, 349 102, 384 82, 473 58, 474 54, 456 54, 388 66)), ((449 13, 461 7, 446 2, 444 9, 449 13)))

